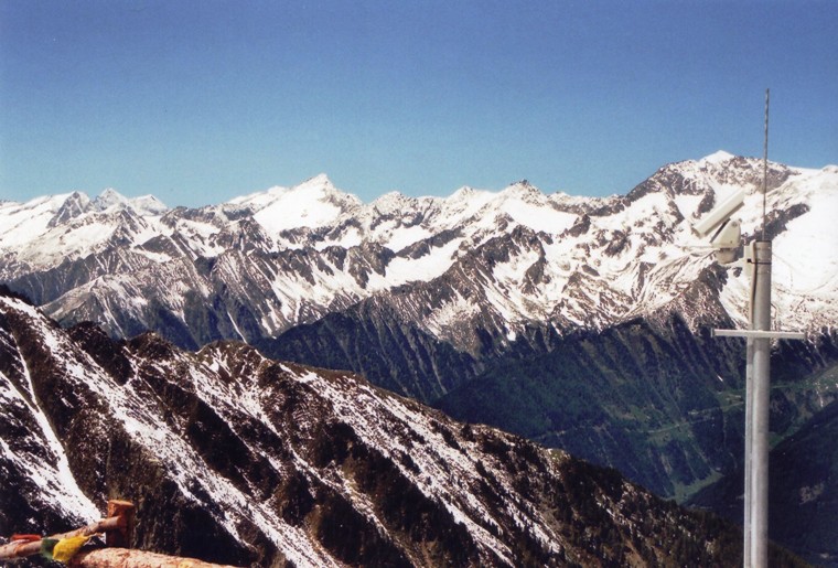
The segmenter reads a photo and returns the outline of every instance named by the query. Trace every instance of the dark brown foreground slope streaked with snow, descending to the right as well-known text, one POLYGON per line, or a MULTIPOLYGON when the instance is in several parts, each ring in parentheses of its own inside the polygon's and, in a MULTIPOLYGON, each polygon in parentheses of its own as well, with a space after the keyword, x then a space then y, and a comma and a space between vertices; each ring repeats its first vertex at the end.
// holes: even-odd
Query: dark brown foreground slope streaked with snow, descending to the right
POLYGON ((109 342, 0 298, 0 534, 62 531, 121 497, 138 505, 135 546, 248 566, 740 555, 716 517, 356 376, 237 343, 191 354, 153 334, 109 342))

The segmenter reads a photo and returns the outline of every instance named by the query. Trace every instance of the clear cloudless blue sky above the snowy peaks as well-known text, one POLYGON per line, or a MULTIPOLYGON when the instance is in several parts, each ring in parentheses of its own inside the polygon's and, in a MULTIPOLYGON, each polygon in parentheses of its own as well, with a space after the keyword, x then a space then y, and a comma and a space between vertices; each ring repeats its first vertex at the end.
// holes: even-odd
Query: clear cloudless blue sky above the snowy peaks
POLYGON ((625 193, 838 163, 835 0, 0 0, 0 200, 625 193))

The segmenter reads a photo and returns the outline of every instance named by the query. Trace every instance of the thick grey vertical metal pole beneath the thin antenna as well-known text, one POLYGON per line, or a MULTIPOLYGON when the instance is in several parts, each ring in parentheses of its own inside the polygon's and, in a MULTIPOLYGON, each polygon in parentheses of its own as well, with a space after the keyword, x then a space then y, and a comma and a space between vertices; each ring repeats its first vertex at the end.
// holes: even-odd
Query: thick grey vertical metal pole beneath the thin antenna
MULTIPOLYGON (((754 301, 752 329, 771 329, 771 242, 754 244, 754 301)), ((769 565, 769 395, 771 340, 754 337, 751 353, 751 551, 754 567, 769 565)))

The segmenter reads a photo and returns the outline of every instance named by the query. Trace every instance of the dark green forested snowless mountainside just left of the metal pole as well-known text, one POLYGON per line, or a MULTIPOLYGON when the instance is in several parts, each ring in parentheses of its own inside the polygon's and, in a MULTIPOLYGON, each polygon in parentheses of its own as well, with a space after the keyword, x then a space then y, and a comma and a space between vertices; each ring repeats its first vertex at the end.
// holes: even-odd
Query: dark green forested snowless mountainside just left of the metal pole
POLYGON ((740 346, 697 337, 677 318, 636 320, 493 366, 439 407, 683 495, 741 453, 742 417, 722 409, 721 394, 741 386, 742 360, 740 346))

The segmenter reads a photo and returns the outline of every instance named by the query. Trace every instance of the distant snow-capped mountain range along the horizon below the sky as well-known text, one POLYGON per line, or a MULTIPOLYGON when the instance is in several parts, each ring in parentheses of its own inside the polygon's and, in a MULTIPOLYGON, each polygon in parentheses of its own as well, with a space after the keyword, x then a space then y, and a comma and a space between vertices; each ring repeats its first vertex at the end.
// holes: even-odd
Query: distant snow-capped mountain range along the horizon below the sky
MULTIPOLYGON (((603 329, 674 304, 713 264, 690 225, 743 187, 750 238, 762 223, 761 180, 760 160, 717 152, 605 199, 545 195, 522 181, 364 204, 319 175, 197 210, 112 190, 2 202, 0 281, 61 322, 98 321, 114 336, 157 329, 193 349, 272 337, 430 285, 430 298, 396 300, 399 312, 476 353, 477 329, 513 342, 529 322, 603 329)), ((838 167, 771 163, 769 190, 775 318, 785 329, 832 325, 838 167)), ((744 325, 748 277, 727 274, 719 299, 744 325)))

